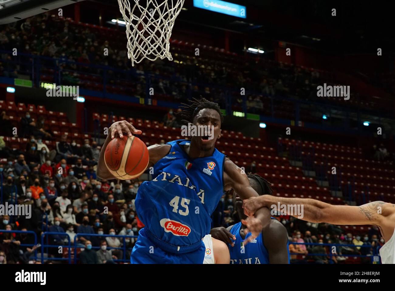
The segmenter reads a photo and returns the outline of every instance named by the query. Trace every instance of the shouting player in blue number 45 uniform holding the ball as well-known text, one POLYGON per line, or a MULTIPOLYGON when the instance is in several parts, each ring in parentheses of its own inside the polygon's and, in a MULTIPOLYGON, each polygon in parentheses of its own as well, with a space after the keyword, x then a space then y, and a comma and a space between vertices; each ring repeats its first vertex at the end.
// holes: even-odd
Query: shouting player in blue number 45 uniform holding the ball
MULTIPOLYGON (((181 108, 179 114, 186 122, 210 127, 214 134, 209 138, 205 131, 190 140, 149 146, 148 168, 154 179, 141 184, 135 199, 137 215, 145 227, 139 231, 132 263, 203 263, 206 248, 202 239, 210 233, 211 214, 223 193, 234 189, 242 199, 258 196, 247 175, 215 148, 224 120, 218 104, 201 98, 181 108)), ((115 179, 104 164, 105 148, 115 134, 141 134, 124 120, 113 123, 109 132, 98 162, 101 179, 115 179)), ((246 221, 256 237, 269 224, 270 211, 259 209, 246 221)))

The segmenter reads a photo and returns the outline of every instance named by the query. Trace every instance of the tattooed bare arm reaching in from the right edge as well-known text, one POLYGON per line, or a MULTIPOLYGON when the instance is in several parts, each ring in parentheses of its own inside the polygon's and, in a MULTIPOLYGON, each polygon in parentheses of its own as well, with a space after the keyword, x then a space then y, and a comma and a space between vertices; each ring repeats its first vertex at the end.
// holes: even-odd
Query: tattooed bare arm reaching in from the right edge
MULTIPOLYGON (((375 224, 380 227, 385 241, 391 238, 395 228, 395 205, 383 201, 374 201, 361 206, 350 206, 331 205, 314 199, 262 195, 258 198, 243 201, 243 208, 246 215, 251 215, 260 207, 270 208, 271 205, 277 205, 278 202, 284 205, 303 205, 303 218, 301 219, 313 223, 375 224)), ((287 214, 291 215, 291 213, 287 214)), ((297 214, 293 216, 297 217, 297 214)))

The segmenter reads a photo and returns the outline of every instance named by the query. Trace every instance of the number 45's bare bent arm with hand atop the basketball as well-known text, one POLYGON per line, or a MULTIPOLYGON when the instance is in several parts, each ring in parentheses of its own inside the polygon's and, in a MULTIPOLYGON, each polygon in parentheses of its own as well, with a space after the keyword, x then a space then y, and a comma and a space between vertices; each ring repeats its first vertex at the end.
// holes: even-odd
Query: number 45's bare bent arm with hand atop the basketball
MULTIPOLYGON (((116 136, 123 137, 126 133, 128 136, 132 136, 133 134, 141 134, 141 130, 135 129, 132 124, 127 122, 126 120, 118 121, 113 123, 109 128, 109 134, 105 139, 105 142, 102 146, 102 150, 100 150, 100 156, 98 160, 98 168, 97 168, 97 176, 100 179, 116 179, 110 171, 107 169, 104 162, 104 152, 107 148, 108 143, 116 136)), ((166 156, 169 152, 171 146, 170 145, 152 145, 148 147, 149 153, 149 163, 147 167, 152 167, 158 160, 166 156)))

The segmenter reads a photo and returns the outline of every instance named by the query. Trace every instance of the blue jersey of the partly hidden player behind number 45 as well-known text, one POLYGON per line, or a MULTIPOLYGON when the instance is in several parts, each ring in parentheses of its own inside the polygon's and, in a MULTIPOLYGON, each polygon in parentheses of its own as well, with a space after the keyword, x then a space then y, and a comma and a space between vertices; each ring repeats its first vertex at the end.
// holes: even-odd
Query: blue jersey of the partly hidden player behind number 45
MULTIPOLYGON (((272 219, 275 219, 272 217, 272 219)), ((262 233, 255 239, 249 242, 247 245, 243 245, 243 241, 250 237, 252 234, 248 233, 243 239, 240 235, 241 222, 233 225, 230 233, 236 237, 235 245, 232 247, 228 244, 230 253, 231 264, 269 264, 269 253, 265 245, 263 245, 262 233)), ((288 249, 288 241, 287 241, 288 249)), ((288 262, 289 262, 289 251, 288 251, 288 262)))

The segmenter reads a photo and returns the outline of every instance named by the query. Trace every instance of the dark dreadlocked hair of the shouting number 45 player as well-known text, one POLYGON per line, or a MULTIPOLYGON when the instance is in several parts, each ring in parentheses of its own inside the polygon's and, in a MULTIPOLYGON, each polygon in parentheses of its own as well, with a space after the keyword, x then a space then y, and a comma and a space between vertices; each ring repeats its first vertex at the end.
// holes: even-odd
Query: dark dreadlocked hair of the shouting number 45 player
POLYGON ((218 114, 220 115, 221 124, 224 121, 224 116, 222 115, 221 109, 217 103, 208 101, 201 96, 200 100, 197 98, 192 98, 192 100, 189 100, 189 103, 190 104, 181 103, 181 106, 179 108, 181 108, 182 111, 176 113, 177 115, 181 116, 181 118, 184 118, 181 120, 182 122, 184 122, 184 124, 193 123, 194 118, 199 113, 199 111, 205 108, 216 110, 216 112, 218 112, 218 114))

